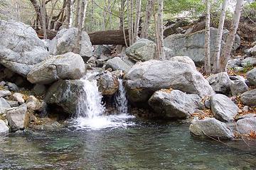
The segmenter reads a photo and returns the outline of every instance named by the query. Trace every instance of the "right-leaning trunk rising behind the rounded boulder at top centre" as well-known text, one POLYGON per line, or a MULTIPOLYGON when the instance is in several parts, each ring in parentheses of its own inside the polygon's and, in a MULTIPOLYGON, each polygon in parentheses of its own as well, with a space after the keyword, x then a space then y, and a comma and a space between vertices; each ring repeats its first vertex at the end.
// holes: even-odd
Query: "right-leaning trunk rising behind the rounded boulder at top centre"
POLYGON ((144 18, 144 24, 143 24, 142 35, 141 35, 142 38, 148 38, 149 23, 152 15, 153 6, 154 6, 154 0, 147 1, 146 14, 144 18))

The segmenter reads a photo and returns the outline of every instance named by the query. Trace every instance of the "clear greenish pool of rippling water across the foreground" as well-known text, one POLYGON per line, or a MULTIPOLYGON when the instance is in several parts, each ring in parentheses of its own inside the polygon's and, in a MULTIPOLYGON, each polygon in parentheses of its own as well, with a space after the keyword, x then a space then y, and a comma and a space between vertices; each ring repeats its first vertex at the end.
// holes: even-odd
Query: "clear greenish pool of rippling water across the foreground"
POLYGON ((191 137, 188 125, 139 120, 126 128, 0 137, 0 169, 256 169, 256 146, 191 137))

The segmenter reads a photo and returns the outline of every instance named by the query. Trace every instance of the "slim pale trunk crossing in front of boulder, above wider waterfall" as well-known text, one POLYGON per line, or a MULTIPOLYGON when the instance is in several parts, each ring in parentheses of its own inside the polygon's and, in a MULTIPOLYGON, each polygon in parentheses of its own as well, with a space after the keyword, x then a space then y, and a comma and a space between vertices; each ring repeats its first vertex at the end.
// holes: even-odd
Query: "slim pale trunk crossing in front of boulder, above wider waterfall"
MULTIPOLYGON (((82 23, 83 23, 83 18, 85 16, 85 1, 87 0, 81 0, 81 8, 79 11, 79 18, 78 18, 78 35, 77 35, 77 40, 76 40, 76 45, 73 50, 73 52, 79 54, 81 51, 81 40, 82 40, 82 23)), ((87 3, 87 2, 86 2, 87 3)))

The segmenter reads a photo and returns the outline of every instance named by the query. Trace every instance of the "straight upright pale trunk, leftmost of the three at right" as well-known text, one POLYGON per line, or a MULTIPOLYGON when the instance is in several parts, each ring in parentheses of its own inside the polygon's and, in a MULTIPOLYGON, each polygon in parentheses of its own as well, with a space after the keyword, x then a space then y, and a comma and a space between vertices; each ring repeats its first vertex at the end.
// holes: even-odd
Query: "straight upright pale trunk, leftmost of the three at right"
POLYGON ((205 35, 205 63, 206 74, 210 74, 210 0, 206 0, 206 35, 205 35))

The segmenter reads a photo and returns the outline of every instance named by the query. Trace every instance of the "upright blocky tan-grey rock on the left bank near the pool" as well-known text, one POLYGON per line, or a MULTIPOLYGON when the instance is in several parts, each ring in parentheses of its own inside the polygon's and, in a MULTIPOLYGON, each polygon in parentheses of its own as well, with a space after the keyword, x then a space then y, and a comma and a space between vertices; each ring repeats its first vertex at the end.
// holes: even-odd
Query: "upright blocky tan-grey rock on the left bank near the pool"
POLYGON ((25 127, 26 111, 27 107, 25 103, 16 108, 10 108, 8 111, 6 111, 6 118, 11 131, 15 132, 17 130, 23 130, 25 127))

